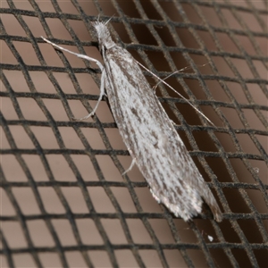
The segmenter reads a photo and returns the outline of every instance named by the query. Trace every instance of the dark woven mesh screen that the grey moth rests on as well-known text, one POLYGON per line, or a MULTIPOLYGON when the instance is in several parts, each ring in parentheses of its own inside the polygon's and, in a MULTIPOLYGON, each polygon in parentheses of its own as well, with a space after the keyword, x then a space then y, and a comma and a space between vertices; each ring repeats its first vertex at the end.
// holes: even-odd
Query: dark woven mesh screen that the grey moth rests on
MULTIPOLYGON (((1 0, 1 267, 264 267, 267 2, 1 0), (151 196, 104 98, 90 21, 180 96, 156 89, 221 206, 192 222, 151 196)), ((157 80, 145 71, 152 88, 157 80)), ((153 90, 153 89, 152 89, 153 90)))

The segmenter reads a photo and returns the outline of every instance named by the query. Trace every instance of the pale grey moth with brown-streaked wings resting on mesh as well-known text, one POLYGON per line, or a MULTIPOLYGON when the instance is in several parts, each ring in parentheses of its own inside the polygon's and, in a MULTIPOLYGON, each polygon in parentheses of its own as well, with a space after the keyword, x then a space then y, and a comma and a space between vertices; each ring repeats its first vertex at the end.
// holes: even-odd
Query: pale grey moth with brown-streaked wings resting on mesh
POLYGON ((133 164, 138 165, 155 200, 186 222, 201 213, 204 200, 214 219, 221 222, 222 213, 214 195, 198 172, 172 121, 150 88, 138 62, 126 49, 113 42, 107 22, 93 22, 104 65, 88 55, 73 53, 43 38, 58 49, 96 63, 102 71, 96 107, 82 119, 96 112, 106 92, 114 121, 132 156, 130 169, 133 164))

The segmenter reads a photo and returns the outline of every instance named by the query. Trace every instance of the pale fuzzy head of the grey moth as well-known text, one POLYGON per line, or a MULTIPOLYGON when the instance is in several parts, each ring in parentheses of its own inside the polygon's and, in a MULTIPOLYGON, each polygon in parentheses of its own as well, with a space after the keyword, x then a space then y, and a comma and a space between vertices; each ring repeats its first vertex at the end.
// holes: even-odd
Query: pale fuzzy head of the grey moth
POLYGON ((96 36, 100 47, 105 46, 106 49, 109 49, 115 46, 105 22, 96 21, 93 23, 93 27, 96 30, 96 36))

